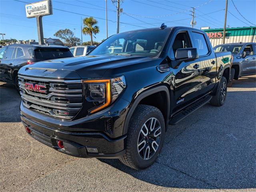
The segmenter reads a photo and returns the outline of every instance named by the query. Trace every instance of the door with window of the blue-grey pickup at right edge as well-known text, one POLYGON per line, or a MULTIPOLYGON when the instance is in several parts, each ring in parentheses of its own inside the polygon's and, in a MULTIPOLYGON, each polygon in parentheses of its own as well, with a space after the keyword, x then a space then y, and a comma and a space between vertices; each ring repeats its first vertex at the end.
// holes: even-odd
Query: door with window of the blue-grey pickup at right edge
POLYGON ((241 75, 250 75, 255 74, 256 72, 256 50, 255 45, 254 49, 252 44, 247 44, 244 49, 242 50, 242 54, 244 51, 250 52, 250 55, 246 55, 242 58, 242 71, 241 75))

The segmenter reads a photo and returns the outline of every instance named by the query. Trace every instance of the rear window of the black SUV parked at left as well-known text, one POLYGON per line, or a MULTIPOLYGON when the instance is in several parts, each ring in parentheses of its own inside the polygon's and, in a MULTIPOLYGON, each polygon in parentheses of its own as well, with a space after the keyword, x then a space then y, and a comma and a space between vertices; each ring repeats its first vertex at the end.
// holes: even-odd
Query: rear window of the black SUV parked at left
POLYGON ((34 52, 36 59, 43 60, 73 57, 69 49, 62 48, 38 48, 34 52))

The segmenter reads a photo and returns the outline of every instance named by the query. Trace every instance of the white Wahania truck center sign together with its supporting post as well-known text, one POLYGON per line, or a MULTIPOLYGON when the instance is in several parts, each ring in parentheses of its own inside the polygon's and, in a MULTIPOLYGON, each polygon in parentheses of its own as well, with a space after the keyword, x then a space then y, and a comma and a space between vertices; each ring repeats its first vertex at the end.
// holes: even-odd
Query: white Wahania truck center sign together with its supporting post
POLYGON ((25 9, 27 18, 36 18, 38 44, 44 44, 42 17, 52 14, 52 0, 26 4, 25 9))

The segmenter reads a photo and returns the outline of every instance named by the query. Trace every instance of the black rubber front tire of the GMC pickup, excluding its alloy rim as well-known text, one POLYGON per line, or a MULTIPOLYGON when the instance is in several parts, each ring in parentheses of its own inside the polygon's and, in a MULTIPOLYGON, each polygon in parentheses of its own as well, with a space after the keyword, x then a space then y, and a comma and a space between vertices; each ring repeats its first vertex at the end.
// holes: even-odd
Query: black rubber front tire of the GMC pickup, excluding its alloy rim
POLYGON ((129 122, 126 153, 119 160, 126 166, 134 169, 145 169, 151 166, 158 158, 158 155, 162 149, 166 132, 165 130, 166 128, 164 117, 158 108, 149 105, 138 105, 129 122), (155 153, 152 154, 151 158, 144 160, 143 158, 141 158, 138 152, 138 138, 141 133, 142 126, 150 118, 156 118, 160 123, 161 135, 159 145, 155 153))

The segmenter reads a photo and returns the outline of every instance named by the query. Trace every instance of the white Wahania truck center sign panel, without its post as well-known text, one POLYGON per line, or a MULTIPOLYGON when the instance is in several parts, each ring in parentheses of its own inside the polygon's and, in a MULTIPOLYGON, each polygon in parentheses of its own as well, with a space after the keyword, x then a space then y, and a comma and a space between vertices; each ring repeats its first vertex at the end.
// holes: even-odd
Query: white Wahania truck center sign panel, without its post
POLYGON ((26 4, 26 16, 27 18, 51 15, 52 14, 52 1, 44 0, 36 3, 26 4))

